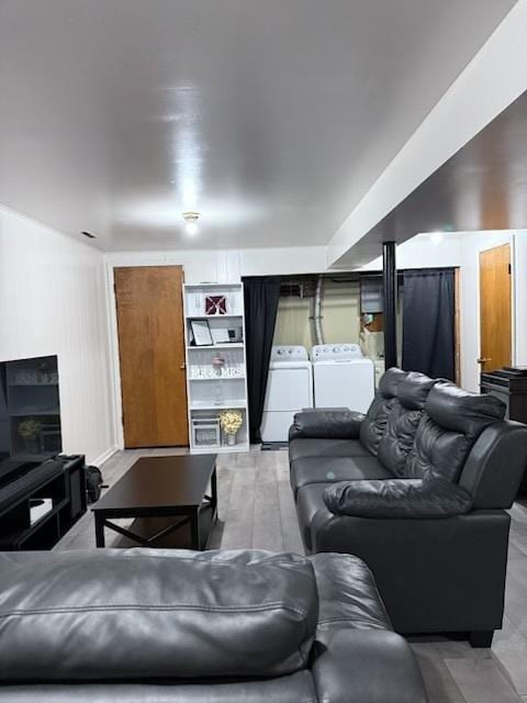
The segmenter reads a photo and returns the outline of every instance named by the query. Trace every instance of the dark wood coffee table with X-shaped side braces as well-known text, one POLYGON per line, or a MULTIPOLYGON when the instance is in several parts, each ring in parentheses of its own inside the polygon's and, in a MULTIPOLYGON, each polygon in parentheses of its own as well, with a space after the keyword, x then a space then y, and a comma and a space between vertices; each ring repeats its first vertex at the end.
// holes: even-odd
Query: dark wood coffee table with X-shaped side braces
POLYGON ((91 510, 98 547, 104 547, 108 527, 143 547, 205 549, 217 514, 216 455, 143 457, 91 510), (128 529, 111 522, 123 517, 136 520, 128 529), (167 544, 189 528, 186 544, 167 544))

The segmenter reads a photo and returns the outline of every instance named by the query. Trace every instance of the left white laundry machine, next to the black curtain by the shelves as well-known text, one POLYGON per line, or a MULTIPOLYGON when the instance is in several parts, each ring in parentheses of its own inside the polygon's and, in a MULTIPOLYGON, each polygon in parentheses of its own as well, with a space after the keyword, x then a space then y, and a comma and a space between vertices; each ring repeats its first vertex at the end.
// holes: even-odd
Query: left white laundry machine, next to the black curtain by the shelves
POLYGON ((294 413, 313 408, 313 369, 302 346, 274 346, 267 379, 262 442, 287 442, 294 413))

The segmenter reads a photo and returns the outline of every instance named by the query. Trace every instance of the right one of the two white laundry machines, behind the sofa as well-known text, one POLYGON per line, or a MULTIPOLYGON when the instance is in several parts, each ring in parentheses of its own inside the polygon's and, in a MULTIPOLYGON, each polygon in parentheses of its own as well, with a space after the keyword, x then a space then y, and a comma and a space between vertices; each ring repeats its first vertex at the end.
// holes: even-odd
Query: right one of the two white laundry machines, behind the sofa
POLYGON ((346 406, 366 413, 375 392, 375 369, 358 344, 315 345, 311 360, 315 408, 346 406))

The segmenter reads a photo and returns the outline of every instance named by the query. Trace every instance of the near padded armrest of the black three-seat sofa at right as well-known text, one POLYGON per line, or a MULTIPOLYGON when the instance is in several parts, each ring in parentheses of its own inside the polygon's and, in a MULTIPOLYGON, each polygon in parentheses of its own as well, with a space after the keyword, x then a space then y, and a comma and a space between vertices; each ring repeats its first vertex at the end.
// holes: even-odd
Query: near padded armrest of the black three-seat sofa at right
POLYGON ((463 515, 472 507, 469 491, 437 478, 333 483, 324 502, 335 515, 414 520, 463 515))

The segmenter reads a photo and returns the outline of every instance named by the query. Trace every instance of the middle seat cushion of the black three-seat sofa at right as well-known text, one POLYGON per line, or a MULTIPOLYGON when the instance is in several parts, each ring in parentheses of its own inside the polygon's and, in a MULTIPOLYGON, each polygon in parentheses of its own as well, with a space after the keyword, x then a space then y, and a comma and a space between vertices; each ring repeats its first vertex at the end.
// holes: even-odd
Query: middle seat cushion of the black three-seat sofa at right
POLYGON ((298 490, 309 483, 335 483, 363 479, 391 479, 375 457, 307 457, 291 465, 291 486, 298 490))

